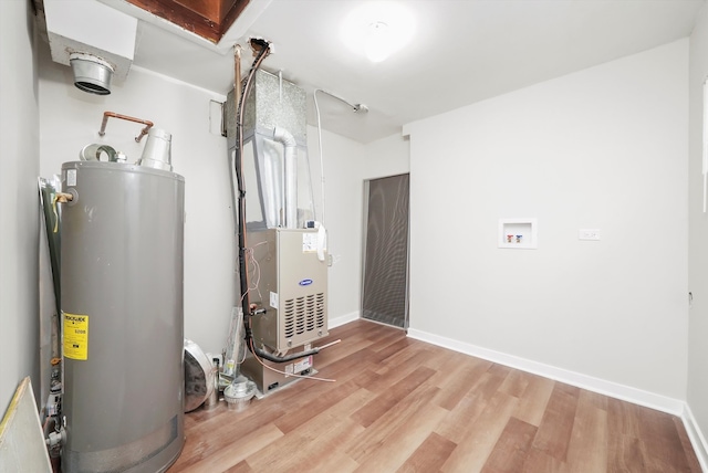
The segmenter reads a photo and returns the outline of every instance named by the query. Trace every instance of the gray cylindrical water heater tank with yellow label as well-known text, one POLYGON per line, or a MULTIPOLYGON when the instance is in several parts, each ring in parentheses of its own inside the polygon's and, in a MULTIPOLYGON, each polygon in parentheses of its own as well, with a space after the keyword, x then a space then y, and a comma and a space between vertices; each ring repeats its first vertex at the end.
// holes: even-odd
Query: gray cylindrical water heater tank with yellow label
POLYGON ((62 471, 165 471, 184 445, 184 178, 75 161, 62 188, 62 471))

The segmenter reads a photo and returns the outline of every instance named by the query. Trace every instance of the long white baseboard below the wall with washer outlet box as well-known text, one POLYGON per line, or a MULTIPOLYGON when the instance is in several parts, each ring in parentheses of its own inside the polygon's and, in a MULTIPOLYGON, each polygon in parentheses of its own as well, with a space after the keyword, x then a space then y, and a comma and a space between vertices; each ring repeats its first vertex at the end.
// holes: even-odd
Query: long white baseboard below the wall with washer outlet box
POLYGON ((642 389, 632 388, 563 368, 544 365, 542 362, 532 361, 513 355, 490 350, 488 348, 465 344, 438 335, 416 330, 414 328, 408 329, 408 336, 410 338, 416 338, 433 345, 464 353, 466 355, 471 355, 500 365, 509 366, 511 368, 520 369, 522 371, 543 376, 544 378, 550 378, 566 385, 587 389, 589 391, 598 392, 623 401, 667 412, 673 416, 681 417, 685 411, 686 402, 683 400, 656 395, 654 392, 644 391, 642 389))

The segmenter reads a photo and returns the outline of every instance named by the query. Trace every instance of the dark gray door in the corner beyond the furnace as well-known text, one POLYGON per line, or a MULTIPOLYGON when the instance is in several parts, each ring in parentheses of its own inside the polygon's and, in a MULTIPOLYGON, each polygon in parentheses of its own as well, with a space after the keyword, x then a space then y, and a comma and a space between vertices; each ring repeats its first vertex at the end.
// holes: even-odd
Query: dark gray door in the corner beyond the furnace
POLYGON ((362 315, 408 327, 408 175, 367 183, 362 315))

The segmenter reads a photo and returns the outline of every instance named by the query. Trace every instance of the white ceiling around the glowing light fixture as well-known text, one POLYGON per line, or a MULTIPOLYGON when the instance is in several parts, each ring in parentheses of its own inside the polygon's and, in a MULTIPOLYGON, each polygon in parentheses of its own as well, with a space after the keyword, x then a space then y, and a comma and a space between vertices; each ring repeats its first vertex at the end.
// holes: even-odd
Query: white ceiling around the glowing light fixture
MULTIPOLYGON (((407 0, 415 34, 388 60, 371 63, 340 40, 363 1, 250 0, 219 43, 125 0, 101 0, 138 17, 134 65, 225 94, 233 86, 233 44, 267 39, 262 69, 282 72, 309 95, 331 91, 368 114, 317 93, 322 127, 361 143, 420 118, 645 51, 690 34, 705 0, 407 0)), ((128 78, 129 81, 129 75, 128 78)))

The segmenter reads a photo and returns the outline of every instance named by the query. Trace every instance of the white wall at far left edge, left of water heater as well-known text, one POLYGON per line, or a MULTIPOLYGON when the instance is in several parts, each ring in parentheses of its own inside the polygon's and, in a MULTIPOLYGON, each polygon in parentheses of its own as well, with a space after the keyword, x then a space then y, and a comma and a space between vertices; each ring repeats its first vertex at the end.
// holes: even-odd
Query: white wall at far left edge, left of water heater
POLYGON ((0 2, 0 419, 32 376, 39 392, 39 117, 30 2, 0 2))

